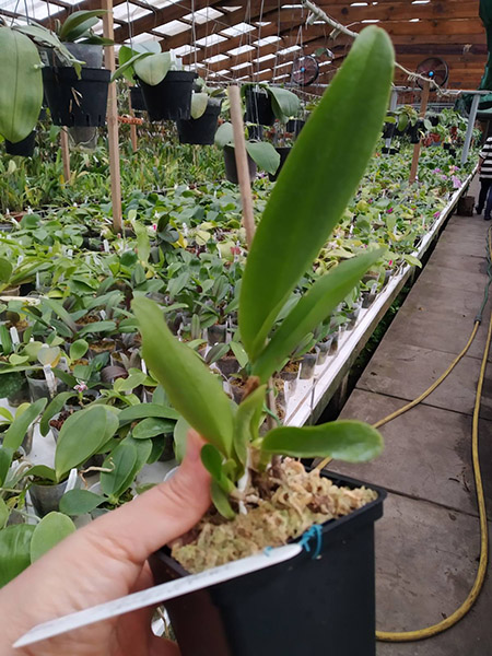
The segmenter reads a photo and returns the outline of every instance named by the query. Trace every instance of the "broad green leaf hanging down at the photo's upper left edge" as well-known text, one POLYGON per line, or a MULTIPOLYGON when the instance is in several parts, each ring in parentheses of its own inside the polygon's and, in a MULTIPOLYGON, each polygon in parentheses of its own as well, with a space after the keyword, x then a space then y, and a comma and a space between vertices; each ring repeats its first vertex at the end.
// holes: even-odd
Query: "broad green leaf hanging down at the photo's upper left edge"
POLYGON ((36 46, 25 35, 0 27, 4 74, 0 84, 0 134, 17 143, 34 130, 43 104, 43 77, 36 46))

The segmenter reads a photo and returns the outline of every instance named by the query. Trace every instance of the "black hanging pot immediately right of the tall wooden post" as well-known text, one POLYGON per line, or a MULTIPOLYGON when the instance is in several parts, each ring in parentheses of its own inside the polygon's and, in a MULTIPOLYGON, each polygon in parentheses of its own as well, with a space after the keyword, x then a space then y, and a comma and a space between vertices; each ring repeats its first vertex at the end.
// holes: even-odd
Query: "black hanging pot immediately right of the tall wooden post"
POLYGON ((169 71, 155 86, 139 80, 150 120, 189 119, 196 77, 192 71, 169 71))

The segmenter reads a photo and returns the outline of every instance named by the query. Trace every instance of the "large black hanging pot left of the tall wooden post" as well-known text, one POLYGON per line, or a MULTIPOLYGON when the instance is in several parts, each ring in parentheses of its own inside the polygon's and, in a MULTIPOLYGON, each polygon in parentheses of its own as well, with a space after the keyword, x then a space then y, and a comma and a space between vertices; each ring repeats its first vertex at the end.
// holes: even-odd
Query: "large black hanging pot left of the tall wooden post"
POLYGON ((106 122, 110 71, 81 70, 79 80, 71 67, 44 68, 43 82, 56 126, 97 127, 106 122))

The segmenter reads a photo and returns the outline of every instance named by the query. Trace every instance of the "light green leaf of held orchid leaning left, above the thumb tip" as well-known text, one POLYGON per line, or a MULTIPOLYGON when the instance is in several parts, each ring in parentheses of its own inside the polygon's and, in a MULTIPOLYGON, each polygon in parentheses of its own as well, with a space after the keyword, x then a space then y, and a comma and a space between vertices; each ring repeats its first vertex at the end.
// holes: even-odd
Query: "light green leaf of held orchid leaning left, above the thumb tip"
POLYGON ((186 344, 174 337, 159 306, 143 296, 132 303, 142 335, 142 353, 174 408, 207 442, 231 454, 233 411, 218 378, 186 344))

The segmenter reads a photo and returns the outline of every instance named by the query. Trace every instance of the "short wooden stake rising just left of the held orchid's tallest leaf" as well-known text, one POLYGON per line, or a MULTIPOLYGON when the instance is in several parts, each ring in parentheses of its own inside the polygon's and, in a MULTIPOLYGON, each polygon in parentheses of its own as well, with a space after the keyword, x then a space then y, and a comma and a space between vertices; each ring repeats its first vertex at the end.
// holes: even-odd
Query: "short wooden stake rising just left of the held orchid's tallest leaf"
POLYGON ((234 156, 236 159, 237 178, 239 180, 241 200, 243 202, 243 225, 246 230, 248 247, 255 236, 255 216, 253 214, 251 181, 249 179, 248 155, 244 138, 243 108, 238 86, 229 87, 231 102, 231 121, 234 130, 234 156))

